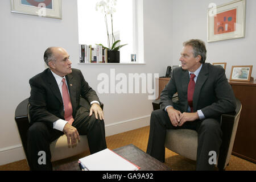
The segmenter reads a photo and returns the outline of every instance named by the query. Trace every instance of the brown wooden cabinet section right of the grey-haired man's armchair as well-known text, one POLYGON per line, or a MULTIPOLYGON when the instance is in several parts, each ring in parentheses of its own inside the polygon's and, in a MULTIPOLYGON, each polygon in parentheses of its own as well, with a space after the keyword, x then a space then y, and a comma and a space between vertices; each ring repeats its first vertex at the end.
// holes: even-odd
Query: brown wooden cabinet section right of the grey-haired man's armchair
POLYGON ((256 163, 256 81, 229 81, 242 104, 232 154, 256 163))

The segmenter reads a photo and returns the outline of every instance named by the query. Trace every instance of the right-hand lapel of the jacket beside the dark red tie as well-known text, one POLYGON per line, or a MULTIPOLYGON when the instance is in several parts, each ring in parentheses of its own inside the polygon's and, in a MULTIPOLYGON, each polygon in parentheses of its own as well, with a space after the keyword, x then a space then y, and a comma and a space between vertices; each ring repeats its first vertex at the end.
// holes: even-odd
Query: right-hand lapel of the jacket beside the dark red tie
POLYGON ((199 73, 199 76, 197 77, 195 91, 193 94, 193 108, 195 109, 197 108, 201 88, 204 85, 204 82, 207 80, 208 75, 209 75, 209 71, 206 67, 206 64, 203 64, 201 71, 199 73))

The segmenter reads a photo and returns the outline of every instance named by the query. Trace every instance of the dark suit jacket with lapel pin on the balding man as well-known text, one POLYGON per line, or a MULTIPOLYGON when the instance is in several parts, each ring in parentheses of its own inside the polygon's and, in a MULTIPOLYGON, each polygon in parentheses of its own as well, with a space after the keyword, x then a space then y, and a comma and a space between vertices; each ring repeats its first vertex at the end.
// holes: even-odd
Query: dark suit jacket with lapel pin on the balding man
MULTIPOLYGON (((80 108, 80 96, 88 102, 98 101, 96 92, 84 80, 79 69, 72 68, 72 73, 65 76, 73 109, 73 118, 80 108)), ((45 122, 52 127, 53 122, 64 119, 64 106, 60 89, 51 70, 47 68, 42 73, 30 79, 30 117, 31 122, 45 122)))

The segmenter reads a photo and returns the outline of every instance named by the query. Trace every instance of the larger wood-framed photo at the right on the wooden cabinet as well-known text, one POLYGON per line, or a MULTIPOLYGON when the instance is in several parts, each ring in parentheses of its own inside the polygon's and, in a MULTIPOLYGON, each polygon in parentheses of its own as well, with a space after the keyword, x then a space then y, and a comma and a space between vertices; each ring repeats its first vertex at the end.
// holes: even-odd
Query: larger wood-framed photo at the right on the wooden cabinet
POLYGON ((250 81, 253 65, 232 66, 230 80, 232 81, 250 81))

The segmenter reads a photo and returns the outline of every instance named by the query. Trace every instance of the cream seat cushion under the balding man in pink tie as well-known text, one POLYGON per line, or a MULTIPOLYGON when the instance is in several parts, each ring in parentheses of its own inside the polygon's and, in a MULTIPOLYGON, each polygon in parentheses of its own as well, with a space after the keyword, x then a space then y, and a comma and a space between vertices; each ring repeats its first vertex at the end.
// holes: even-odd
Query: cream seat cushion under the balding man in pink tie
POLYGON ((66 135, 62 135, 50 144, 51 161, 69 158, 71 156, 81 154, 88 151, 88 140, 86 135, 80 135, 80 142, 77 142, 75 147, 68 147, 68 140, 66 135))

